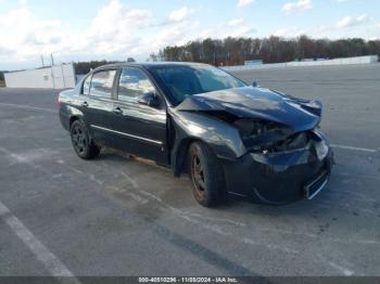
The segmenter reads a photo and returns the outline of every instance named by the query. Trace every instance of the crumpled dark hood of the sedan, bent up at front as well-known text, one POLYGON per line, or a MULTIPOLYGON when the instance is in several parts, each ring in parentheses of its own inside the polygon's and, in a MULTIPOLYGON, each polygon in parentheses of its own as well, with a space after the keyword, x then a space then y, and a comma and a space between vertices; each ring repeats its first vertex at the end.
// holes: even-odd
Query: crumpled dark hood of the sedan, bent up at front
POLYGON ((239 118, 258 118, 291 127, 294 131, 315 128, 320 121, 321 103, 292 98, 263 88, 236 88, 194 94, 178 111, 225 111, 239 118))

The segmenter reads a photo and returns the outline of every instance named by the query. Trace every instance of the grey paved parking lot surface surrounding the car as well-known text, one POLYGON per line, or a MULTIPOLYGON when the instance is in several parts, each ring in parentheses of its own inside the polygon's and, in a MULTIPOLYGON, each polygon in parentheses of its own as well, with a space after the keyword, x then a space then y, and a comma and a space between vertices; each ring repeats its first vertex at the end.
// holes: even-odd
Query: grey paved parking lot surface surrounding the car
POLYGON ((203 208, 168 169, 79 159, 58 91, 0 89, 0 275, 380 275, 380 66, 236 75, 322 101, 337 165, 317 197, 203 208))

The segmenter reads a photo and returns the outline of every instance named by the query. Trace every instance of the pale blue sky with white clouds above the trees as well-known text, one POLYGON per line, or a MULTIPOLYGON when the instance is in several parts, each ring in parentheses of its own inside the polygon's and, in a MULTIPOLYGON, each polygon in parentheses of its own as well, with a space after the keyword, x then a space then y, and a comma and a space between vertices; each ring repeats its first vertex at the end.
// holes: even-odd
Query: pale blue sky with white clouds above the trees
POLYGON ((0 0, 0 69, 144 61, 197 38, 380 38, 380 0, 0 0))

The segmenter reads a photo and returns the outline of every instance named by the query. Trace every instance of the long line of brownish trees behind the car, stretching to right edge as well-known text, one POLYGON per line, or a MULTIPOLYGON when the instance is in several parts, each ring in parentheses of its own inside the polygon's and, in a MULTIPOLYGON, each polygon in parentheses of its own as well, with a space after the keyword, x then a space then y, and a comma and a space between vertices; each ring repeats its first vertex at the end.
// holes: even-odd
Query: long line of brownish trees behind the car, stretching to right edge
POLYGON ((300 36, 286 39, 233 38, 190 41, 185 46, 166 47, 150 54, 150 61, 191 61, 220 65, 242 65, 244 61, 262 60, 264 63, 302 61, 304 59, 339 59, 380 55, 380 40, 312 39, 300 36))

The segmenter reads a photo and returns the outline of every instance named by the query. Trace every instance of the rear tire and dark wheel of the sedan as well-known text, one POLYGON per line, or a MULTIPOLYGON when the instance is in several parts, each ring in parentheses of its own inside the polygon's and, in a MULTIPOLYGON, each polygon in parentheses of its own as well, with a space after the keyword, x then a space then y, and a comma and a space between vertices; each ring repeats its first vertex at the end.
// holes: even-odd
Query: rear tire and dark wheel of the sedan
POLYGON ((92 159, 99 156, 100 147, 90 139, 88 130, 83 121, 75 120, 69 128, 69 133, 75 153, 80 158, 92 159))

